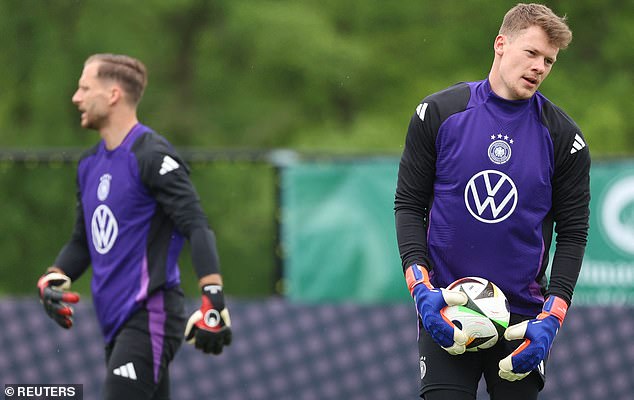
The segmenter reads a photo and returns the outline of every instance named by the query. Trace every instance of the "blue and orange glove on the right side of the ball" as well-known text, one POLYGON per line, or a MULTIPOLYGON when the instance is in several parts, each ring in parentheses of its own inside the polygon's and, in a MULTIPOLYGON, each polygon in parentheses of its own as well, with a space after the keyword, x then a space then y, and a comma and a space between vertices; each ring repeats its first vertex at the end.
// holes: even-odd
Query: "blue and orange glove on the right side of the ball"
POLYGON ((505 339, 525 340, 513 353, 500 361, 498 374, 501 378, 516 381, 537 368, 550 352, 567 310, 568 304, 563 299, 550 296, 537 318, 508 327, 504 332, 505 339))

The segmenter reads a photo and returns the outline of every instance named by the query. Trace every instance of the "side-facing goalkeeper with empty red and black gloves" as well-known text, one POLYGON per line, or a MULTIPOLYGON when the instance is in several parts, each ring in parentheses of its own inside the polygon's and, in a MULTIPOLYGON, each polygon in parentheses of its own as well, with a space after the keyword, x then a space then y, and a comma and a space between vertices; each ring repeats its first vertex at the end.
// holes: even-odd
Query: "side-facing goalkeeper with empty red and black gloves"
POLYGON ((81 126, 101 140, 77 168, 77 219, 70 241, 38 281, 47 314, 73 324, 71 281, 92 265, 92 297, 105 343, 105 399, 169 399, 168 366, 183 335, 205 353, 231 342, 215 237, 188 167, 139 123, 147 83, 132 57, 89 57, 72 101, 81 126), (187 318, 179 253, 189 240, 202 305, 187 318))

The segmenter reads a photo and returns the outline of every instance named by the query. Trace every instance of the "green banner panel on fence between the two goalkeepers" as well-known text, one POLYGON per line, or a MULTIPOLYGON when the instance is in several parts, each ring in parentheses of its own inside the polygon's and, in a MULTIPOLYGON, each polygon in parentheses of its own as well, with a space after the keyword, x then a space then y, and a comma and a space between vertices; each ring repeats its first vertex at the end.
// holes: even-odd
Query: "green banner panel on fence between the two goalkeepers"
POLYGON ((281 171, 286 294, 296 301, 403 301, 394 159, 311 162, 281 171))

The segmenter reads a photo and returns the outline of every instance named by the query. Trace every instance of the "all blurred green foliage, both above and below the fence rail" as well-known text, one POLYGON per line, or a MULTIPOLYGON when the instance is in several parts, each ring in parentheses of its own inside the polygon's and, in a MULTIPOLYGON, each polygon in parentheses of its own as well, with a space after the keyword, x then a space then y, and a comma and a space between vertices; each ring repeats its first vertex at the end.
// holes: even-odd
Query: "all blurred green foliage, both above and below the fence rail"
MULTIPOLYGON (((0 153, 85 148, 70 98, 98 52, 143 60, 141 121, 204 153, 192 178, 216 231, 228 293, 276 292, 277 175, 239 149, 393 154, 427 94, 486 77, 517 1, 5 0, 0 153), (220 154, 220 156, 218 156, 220 154)), ((634 2, 560 0, 574 33, 541 91, 582 128, 595 159, 634 155, 634 2)), ((74 164, 0 159, 0 294, 34 284, 70 235, 74 164)), ((187 251, 188 294, 197 293, 187 251)), ((87 293, 88 279, 76 285, 87 293)), ((278 288, 279 289, 279 288, 278 288)))

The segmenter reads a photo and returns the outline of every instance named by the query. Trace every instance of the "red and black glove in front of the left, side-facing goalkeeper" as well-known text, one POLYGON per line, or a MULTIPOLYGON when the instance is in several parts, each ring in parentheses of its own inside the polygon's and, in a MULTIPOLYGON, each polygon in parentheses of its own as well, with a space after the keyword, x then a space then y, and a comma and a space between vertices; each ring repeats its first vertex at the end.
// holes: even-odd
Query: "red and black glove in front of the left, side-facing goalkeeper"
POLYGON ((68 303, 79 301, 79 294, 69 289, 70 278, 59 272, 46 273, 37 281, 37 292, 46 314, 65 329, 73 326, 73 308, 68 303))

